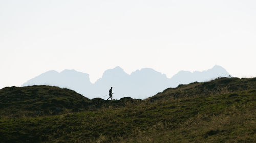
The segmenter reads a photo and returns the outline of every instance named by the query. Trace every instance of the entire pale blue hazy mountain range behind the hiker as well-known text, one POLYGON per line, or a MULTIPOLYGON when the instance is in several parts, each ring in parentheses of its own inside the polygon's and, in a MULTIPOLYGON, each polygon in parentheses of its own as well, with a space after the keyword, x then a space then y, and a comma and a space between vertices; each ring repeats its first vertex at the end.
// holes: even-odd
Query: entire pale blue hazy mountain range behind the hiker
POLYGON ((106 70, 101 78, 95 83, 91 83, 87 73, 75 70, 63 70, 58 73, 52 70, 28 80, 22 86, 55 85, 69 88, 90 99, 95 97, 108 98, 108 91, 110 87, 113 87, 114 99, 126 96, 144 99, 162 92, 166 88, 177 87, 179 84, 207 81, 219 76, 227 77, 229 73, 221 66, 214 66, 212 69, 202 72, 180 71, 172 78, 167 78, 165 74, 151 68, 136 70, 129 75, 122 68, 115 67, 106 70))

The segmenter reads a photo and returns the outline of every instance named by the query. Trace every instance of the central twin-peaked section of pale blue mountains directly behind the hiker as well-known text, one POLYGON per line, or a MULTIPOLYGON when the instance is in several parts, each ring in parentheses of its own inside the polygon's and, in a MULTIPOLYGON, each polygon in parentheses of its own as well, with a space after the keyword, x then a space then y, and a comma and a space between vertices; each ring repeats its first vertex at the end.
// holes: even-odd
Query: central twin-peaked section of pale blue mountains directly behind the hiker
POLYGON ((116 67, 104 72, 102 78, 94 83, 96 89, 92 92, 96 95, 105 95, 108 94, 110 87, 113 87, 114 97, 117 99, 125 96, 146 98, 166 89, 167 81, 166 75, 153 69, 145 68, 129 75, 120 67, 116 67))

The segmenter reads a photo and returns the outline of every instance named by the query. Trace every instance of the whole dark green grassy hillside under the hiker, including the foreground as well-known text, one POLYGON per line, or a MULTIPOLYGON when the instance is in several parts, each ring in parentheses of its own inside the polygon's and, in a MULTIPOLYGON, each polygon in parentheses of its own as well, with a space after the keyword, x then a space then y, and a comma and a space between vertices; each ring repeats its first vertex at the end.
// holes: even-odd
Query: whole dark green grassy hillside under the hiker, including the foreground
POLYGON ((145 100, 90 100, 44 85, 4 88, 0 140, 256 142, 255 97, 256 78, 194 82, 145 100))

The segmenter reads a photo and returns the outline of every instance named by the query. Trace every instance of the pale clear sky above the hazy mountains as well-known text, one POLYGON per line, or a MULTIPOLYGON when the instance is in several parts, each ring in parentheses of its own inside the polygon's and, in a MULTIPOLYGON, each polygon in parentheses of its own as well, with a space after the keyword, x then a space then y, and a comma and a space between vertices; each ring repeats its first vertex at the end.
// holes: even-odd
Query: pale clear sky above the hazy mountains
POLYGON ((256 76, 256 1, 0 0, 0 88, 48 70, 256 76))

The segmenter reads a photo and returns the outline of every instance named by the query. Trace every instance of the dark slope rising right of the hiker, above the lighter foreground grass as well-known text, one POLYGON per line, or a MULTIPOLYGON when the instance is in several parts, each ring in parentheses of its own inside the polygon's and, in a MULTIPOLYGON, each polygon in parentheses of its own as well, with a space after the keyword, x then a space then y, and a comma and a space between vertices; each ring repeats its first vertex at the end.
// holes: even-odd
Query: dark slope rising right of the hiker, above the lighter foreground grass
POLYGON ((256 78, 218 78, 209 82, 193 82, 190 84, 180 84, 177 88, 168 88, 162 93, 158 93, 146 100, 158 101, 194 96, 209 96, 239 92, 256 89, 256 78))

